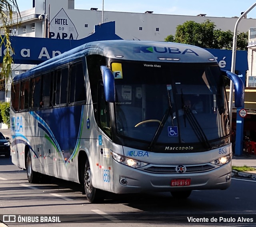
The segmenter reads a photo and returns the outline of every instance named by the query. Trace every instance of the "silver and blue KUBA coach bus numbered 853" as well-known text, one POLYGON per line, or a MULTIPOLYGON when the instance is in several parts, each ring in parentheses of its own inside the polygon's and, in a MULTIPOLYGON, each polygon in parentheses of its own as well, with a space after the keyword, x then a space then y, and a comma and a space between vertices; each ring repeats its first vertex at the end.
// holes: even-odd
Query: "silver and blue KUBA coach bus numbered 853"
POLYGON ((86 43, 13 78, 12 162, 28 182, 77 182, 88 201, 112 193, 226 189, 232 144, 224 77, 200 47, 159 41, 86 43))

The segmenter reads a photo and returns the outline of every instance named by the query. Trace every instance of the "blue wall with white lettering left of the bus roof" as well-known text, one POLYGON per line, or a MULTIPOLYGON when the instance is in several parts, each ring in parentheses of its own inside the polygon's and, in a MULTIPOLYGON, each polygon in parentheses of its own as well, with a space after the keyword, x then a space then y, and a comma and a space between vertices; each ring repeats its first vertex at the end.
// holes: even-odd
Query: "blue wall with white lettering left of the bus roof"
MULTIPOLYGON (((95 32, 92 35, 78 40, 12 36, 13 62, 16 64, 38 65, 84 43, 113 39, 122 39, 115 34, 115 22, 96 25, 95 32)), ((4 45, 2 45, 0 62, 2 62, 4 53, 4 45)))

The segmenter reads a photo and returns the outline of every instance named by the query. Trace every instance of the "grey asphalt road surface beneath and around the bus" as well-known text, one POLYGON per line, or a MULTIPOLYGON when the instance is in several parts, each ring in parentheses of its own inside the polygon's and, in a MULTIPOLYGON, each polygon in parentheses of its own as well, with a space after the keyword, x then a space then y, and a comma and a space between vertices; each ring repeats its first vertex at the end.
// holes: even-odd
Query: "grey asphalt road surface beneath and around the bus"
MULTIPOLYGON (((8 226, 256 226, 256 181, 232 179, 226 190, 192 191, 186 200, 170 193, 108 194, 102 204, 89 203, 80 185, 53 178, 49 184, 29 184, 26 172, 0 156, 0 219, 2 215, 60 215, 62 223, 12 224, 8 226), (64 215, 64 216, 63 216, 64 215), (250 216, 246 216, 250 215, 250 216), (198 223, 189 218, 230 218, 232 223, 198 223), (237 222, 248 217, 249 222, 237 222), (250 221, 252 219, 253 223, 250 221), (80 223, 82 220, 83 223, 80 223), (66 223, 64 223, 66 221, 66 223), (232 220, 231 220, 232 221, 232 220), (254 222, 255 221, 255 222, 254 222)), ((210 220, 210 219, 209 219, 210 220)))

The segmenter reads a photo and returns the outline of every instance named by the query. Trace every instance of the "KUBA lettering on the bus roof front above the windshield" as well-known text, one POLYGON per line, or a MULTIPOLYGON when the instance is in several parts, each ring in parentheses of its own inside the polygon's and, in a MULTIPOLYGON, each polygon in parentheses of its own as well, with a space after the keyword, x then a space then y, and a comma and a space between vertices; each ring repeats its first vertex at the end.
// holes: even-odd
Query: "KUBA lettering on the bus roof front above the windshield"
POLYGON ((193 53, 196 56, 199 56, 195 51, 192 49, 185 49, 184 51, 180 50, 179 48, 176 47, 133 47, 133 52, 134 53, 180 53, 180 54, 186 54, 186 53, 193 53))

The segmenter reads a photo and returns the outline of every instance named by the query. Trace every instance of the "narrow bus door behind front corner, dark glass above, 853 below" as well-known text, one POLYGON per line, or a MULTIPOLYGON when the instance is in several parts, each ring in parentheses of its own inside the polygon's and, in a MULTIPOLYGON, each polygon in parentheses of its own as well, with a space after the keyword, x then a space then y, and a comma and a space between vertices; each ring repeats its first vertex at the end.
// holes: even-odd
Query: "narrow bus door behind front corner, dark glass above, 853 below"
POLYGON ((98 152, 100 152, 100 185, 103 189, 114 189, 113 182, 113 162, 110 154, 112 148, 111 124, 110 124, 110 110, 109 103, 106 102, 104 87, 100 83, 98 91, 98 152))

